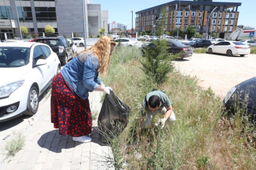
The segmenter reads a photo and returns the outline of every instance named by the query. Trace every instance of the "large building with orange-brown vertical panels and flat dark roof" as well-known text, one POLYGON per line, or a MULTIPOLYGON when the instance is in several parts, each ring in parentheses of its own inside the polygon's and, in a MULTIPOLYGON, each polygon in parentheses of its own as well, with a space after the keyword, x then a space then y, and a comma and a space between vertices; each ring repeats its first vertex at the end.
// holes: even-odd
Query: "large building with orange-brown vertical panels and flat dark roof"
POLYGON ((220 33, 221 37, 224 37, 225 34, 230 34, 236 30, 239 6, 241 3, 222 3, 212 0, 171 1, 136 12, 136 31, 157 30, 155 25, 158 23, 156 21, 161 17, 161 20, 165 20, 166 31, 170 33, 178 26, 183 31, 186 31, 188 26, 195 26, 198 33, 206 35, 208 24, 208 32, 220 33), (166 8, 166 16, 162 16, 163 8, 166 8), (212 12, 214 8, 216 9, 212 12), (207 22, 209 15, 210 20, 207 22))

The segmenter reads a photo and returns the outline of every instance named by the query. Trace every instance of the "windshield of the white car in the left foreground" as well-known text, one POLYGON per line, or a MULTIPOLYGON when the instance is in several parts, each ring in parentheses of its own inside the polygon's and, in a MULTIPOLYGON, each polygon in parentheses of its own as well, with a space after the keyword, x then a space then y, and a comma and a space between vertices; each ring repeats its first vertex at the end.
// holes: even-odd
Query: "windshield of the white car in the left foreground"
POLYGON ((0 67, 22 67, 29 63, 30 48, 1 47, 0 67))

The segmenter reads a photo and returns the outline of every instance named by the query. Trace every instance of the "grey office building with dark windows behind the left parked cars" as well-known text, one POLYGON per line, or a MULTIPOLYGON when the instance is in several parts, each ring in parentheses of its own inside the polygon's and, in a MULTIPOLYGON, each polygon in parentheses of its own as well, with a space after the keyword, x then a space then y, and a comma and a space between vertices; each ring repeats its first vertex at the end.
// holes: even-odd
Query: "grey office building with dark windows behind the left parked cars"
MULTIPOLYGON (((87 36, 97 36, 104 26, 107 30, 107 11, 101 4, 85 1, 87 36)), ((51 25, 56 35, 71 36, 76 32, 83 37, 83 8, 81 0, 0 0, 0 37, 20 37, 20 26, 28 32, 42 36, 46 25, 51 25)))

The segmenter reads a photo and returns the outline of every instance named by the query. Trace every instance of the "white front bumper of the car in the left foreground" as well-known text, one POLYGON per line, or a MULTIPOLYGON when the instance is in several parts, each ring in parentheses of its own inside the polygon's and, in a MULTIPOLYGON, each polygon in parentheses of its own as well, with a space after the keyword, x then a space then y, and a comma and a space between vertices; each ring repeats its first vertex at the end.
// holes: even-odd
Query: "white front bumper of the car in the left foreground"
POLYGON ((21 116, 27 110, 28 91, 24 85, 25 84, 13 91, 9 98, 0 99, 0 122, 5 122, 16 118, 17 116, 21 116), (13 105, 16 106, 16 110, 11 113, 7 113, 6 110, 9 106, 13 105))

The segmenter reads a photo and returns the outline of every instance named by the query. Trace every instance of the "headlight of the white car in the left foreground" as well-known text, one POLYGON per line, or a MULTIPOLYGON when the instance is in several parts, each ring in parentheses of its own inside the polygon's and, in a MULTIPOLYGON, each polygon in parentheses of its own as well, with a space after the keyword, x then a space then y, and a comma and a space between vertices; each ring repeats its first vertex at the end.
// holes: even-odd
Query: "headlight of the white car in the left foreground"
POLYGON ((0 99, 8 98, 13 91, 20 88, 24 84, 24 81, 16 81, 0 87, 0 99))

